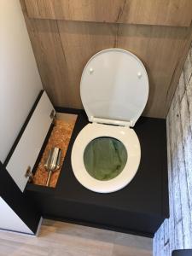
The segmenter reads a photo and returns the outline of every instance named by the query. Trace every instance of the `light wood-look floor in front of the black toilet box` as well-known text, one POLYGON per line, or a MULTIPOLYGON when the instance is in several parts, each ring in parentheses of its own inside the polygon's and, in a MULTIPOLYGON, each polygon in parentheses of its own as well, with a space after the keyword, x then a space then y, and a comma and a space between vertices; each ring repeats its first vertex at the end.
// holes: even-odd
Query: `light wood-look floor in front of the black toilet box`
POLYGON ((45 219, 38 237, 0 232, 0 256, 151 256, 152 239, 45 219))

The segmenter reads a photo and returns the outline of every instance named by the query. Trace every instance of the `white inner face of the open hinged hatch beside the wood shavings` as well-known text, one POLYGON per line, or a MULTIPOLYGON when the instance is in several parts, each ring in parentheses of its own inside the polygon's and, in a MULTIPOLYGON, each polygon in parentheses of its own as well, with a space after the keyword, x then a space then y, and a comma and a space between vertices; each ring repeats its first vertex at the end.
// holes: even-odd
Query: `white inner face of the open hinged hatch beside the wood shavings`
POLYGON ((49 131, 52 122, 49 114, 53 109, 44 92, 6 167, 21 191, 25 189, 28 180, 25 177, 26 169, 34 166, 49 131))

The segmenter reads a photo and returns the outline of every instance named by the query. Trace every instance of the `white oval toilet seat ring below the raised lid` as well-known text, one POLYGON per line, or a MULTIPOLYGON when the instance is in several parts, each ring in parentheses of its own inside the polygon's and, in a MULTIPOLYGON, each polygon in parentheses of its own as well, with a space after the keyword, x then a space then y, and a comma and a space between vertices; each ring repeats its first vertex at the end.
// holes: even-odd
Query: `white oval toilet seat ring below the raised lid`
POLYGON ((125 126, 88 124, 79 132, 73 144, 72 167, 74 176, 86 189, 99 193, 110 193, 123 189, 137 173, 141 159, 140 143, 136 132, 125 126), (86 171, 84 166, 84 149, 97 137, 113 137, 124 144, 128 160, 123 172, 108 181, 100 181, 86 171))

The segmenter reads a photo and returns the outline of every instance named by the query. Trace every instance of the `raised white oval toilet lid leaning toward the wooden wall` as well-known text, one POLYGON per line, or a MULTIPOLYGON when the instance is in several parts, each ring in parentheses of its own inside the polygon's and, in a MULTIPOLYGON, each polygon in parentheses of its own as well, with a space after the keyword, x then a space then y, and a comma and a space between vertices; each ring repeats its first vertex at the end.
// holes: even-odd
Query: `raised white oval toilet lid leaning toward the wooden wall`
POLYGON ((90 121, 119 120, 133 126, 148 101, 148 74, 131 52, 104 49, 84 67, 80 94, 90 121))

